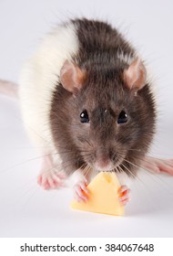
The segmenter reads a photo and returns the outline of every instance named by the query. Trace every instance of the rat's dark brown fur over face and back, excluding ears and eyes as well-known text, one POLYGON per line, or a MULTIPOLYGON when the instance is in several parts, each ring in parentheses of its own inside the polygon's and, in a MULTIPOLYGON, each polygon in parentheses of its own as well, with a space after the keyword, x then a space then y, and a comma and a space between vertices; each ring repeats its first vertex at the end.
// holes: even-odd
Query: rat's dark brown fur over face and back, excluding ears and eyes
POLYGON ((135 59, 136 52, 117 29, 86 19, 72 22, 80 47, 73 61, 85 70, 86 79, 75 94, 57 81, 50 112, 57 152, 66 163, 67 174, 102 159, 110 160, 115 171, 134 175, 155 133, 151 84, 146 83, 137 93, 127 87, 124 71, 129 65, 118 55, 135 59), (80 122, 84 110, 89 123, 80 122), (121 111, 127 113, 127 123, 117 123, 121 111))

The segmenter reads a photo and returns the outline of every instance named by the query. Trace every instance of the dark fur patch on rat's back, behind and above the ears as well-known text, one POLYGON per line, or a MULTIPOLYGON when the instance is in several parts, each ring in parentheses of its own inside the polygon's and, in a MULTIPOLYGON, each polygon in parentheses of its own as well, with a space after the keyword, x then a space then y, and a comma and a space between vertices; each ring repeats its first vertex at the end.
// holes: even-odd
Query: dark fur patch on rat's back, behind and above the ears
POLYGON ((94 62, 97 58, 119 59, 120 55, 129 58, 135 54, 127 40, 106 22, 75 19, 72 23, 79 41, 77 60, 83 61, 84 65, 87 65, 88 59, 94 62))

